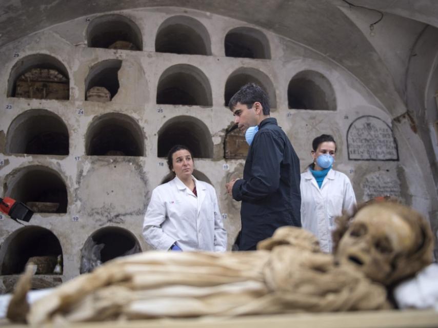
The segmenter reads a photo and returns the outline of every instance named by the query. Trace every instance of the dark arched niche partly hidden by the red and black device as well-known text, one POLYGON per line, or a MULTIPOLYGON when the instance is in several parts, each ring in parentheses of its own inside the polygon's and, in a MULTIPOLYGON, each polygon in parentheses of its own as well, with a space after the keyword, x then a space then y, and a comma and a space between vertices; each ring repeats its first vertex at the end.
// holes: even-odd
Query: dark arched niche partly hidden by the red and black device
POLYGON ((24 202, 35 213, 67 213, 67 188, 61 175, 44 166, 18 169, 4 181, 5 195, 24 202))

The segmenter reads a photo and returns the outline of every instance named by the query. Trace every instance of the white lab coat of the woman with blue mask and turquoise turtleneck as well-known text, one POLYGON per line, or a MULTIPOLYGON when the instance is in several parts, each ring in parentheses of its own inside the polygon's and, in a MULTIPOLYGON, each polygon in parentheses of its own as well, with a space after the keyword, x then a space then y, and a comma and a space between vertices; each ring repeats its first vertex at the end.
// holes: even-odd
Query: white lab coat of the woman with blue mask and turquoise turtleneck
POLYGON ((331 169, 320 189, 307 169, 301 174, 300 189, 301 224, 318 238, 322 251, 331 253, 335 217, 343 211, 353 211, 356 206, 350 179, 344 173, 331 169))

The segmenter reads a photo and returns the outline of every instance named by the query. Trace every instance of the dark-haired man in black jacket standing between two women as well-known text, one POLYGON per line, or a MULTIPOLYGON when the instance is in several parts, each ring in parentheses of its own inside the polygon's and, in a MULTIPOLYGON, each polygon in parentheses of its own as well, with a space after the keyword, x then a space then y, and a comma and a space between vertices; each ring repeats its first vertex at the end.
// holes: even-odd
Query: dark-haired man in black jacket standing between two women
POLYGON ((269 116, 269 98, 260 86, 243 86, 228 106, 241 131, 258 126, 243 179, 226 184, 228 193, 242 200, 238 249, 249 251, 278 227, 301 227, 300 159, 277 120, 269 116))

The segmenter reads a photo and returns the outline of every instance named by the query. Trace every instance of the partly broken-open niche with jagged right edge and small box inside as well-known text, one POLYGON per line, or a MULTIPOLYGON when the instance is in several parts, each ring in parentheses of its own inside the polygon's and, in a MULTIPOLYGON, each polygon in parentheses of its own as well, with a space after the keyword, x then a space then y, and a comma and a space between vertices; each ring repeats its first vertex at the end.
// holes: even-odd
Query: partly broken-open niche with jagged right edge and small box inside
POLYGON ((117 94, 122 60, 108 59, 94 65, 85 79, 85 100, 110 101, 117 94))

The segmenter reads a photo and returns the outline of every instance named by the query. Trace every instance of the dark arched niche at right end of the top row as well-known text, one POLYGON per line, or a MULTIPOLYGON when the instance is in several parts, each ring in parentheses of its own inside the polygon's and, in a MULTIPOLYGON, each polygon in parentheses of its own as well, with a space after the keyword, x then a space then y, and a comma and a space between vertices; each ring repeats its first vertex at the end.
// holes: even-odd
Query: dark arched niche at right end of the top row
POLYGON ((254 59, 271 59, 266 35, 250 27, 237 27, 225 36, 225 56, 254 59))

